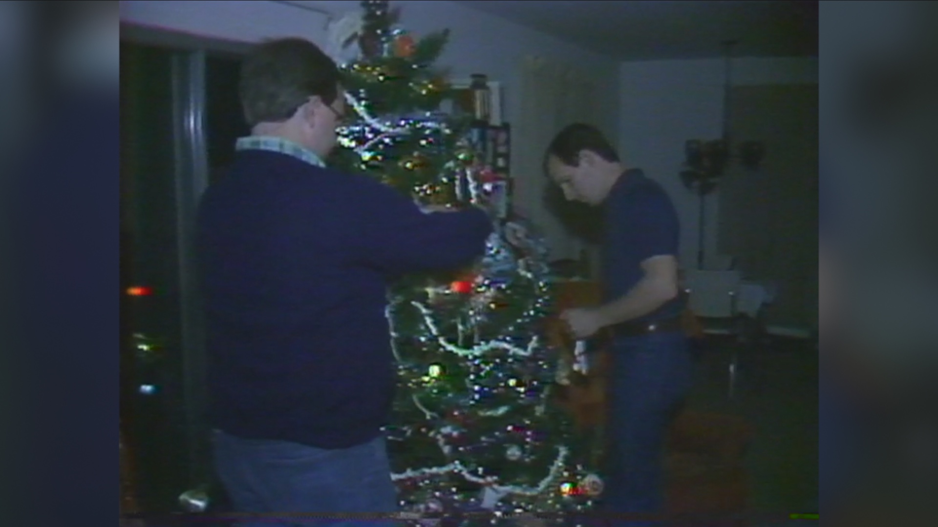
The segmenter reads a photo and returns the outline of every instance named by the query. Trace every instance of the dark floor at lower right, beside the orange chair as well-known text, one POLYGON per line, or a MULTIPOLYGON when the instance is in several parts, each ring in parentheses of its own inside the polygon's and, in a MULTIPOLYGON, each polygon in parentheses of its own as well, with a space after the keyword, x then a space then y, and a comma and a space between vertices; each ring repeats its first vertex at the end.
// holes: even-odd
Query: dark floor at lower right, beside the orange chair
POLYGON ((738 414, 756 429, 749 447, 751 509, 769 514, 817 512, 818 364, 814 341, 768 338, 740 354, 729 397, 732 339, 708 337, 688 407, 738 414))

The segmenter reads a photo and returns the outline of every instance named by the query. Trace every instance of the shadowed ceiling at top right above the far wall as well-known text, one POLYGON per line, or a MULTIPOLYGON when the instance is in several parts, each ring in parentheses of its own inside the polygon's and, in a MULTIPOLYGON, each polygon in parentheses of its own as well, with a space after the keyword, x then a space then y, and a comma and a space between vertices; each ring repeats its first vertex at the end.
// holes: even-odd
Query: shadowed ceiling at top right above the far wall
POLYGON ((623 61, 818 53, 817 0, 453 1, 623 61))

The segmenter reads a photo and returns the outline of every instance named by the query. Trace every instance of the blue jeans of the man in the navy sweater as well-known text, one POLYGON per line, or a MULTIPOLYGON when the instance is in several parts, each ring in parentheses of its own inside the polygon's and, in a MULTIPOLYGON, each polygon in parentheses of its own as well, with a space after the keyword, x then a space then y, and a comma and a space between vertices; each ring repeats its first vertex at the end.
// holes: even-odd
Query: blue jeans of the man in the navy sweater
POLYGON ((219 430, 213 441, 215 467, 236 512, 263 515, 242 519, 239 527, 397 524, 365 518, 398 510, 383 436, 338 450, 241 439, 219 430))

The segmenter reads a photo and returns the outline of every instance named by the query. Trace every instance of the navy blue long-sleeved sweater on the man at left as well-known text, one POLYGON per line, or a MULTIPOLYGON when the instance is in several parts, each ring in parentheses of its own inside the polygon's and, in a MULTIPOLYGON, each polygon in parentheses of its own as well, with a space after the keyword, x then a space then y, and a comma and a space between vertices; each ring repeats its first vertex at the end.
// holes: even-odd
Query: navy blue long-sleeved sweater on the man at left
POLYGON ((245 150, 198 221, 210 420, 250 439, 376 437, 396 384, 386 288, 481 256, 479 210, 427 215, 367 176, 245 150))

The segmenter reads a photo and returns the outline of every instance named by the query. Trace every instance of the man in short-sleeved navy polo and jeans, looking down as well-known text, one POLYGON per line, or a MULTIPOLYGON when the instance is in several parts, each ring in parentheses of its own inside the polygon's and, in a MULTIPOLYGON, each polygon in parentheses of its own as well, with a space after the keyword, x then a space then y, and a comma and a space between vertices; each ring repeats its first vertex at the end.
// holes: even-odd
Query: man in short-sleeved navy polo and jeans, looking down
POLYGON ((671 199, 639 169, 627 169, 603 134, 564 128, 545 168, 567 200, 603 209, 604 303, 561 317, 577 339, 613 335, 612 449, 603 503, 623 525, 654 525, 662 511, 664 434, 690 386, 692 360, 680 324, 679 226, 671 199), (632 517, 632 518, 628 518, 632 517))

